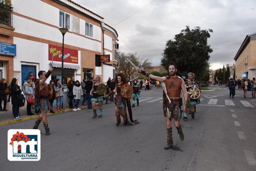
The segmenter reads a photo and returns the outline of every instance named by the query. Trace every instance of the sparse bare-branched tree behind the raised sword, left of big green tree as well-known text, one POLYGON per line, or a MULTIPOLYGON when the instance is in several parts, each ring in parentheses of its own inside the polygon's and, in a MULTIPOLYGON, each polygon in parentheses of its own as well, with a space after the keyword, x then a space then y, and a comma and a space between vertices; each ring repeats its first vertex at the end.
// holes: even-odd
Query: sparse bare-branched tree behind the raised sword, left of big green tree
POLYGON ((129 77, 129 73, 131 76, 134 72, 136 72, 136 68, 134 68, 133 65, 127 61, 127 58, 139 68, 147 69, 150 68, 152 64, 150 60, 136 56, 136 53, 119 52, 117 57, 117 60, 119 60, 119 69, 123 72, 127 79, 129 77))

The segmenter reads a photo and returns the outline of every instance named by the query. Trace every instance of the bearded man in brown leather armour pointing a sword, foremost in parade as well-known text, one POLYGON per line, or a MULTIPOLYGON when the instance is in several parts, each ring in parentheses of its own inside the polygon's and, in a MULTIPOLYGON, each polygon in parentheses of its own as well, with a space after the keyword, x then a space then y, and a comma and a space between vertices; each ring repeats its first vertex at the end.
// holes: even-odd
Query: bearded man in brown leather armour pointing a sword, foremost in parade
MULTIPOLYGON (((183 79, 176 75, 177 66, 173 62, 169 64, 168 73, 170 76, 154 76, 144 70, 137 68, 139 73, 158 80, 166 85, 163 93, 163 115, 166 118, 166 129, 167 129, 167 145, 164 149, 170 149, 173 147, 173 131, 172 131, 172 120, 174 119, 174 125, 177 128, 180 140, 184 140, 184 134, 182 132, 182 126, 180 120, 182 118, 182 97, 181 90, 185 98, 185 106, 187 103, 187 91, 183 79), (168 97, 167 97, 168 96, 168 97)), ((184 108, 186 110, 186 108, 184 108)))

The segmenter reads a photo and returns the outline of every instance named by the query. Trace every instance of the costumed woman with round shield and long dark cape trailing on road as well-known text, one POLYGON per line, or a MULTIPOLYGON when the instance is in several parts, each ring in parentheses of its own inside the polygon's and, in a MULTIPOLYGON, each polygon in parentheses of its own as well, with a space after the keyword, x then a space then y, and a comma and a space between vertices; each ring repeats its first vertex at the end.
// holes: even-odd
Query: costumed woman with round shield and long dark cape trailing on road
POLYGON ((117 117, 117 123, 116 125, 119 125, 121 123, 120 114, 123 116, 123 125, 127 125, 129 122, 132 125, 136 125, 140 122, 136 120, 133 120, 133 114, 131 109, 130 100, 128 98, 124 98, 121 95, 121 88, 123 85, 127 84, 126 77, 123 75, 123 73, 118 73, 115 78, 115 89, 108 93, 108 96, 117 93, 115 98, 115 114, 117 117), (126 106, 128 109, 129 115, 127 116, 126 113, 126 106), (129 118, 128 118, 129 117, 129 118))

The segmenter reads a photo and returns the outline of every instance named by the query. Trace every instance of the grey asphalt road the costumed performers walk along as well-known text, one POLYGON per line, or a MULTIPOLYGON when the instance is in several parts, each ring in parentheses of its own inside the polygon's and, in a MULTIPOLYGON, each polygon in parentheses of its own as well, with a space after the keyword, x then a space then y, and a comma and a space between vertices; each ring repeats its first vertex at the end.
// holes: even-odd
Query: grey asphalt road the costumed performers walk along
POLYGON ((51 135, 41 123, 41 159, 10 162, 7 131, 29 129, 35 120, 0 127, 0 170, 28 171, 255 171, 256 115, 252 98, 237 90, 229 98, 225 86, 202 92, 195 119, 182 121, 185 140, 173 126, 174 147, 166 145, 162 90, 142 90, 133 108, 138 125, 115 125, 114 103, 104 105, 102 118, 80 110, 49 116, 51 135), (244 102, 244 101, 247 101, 244 102))

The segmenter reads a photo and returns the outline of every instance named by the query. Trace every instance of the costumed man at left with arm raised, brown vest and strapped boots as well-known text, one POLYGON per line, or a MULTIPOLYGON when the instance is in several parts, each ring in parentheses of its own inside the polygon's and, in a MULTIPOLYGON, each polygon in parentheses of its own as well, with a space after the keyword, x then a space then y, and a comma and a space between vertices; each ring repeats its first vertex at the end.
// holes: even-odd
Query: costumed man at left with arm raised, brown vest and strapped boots
POLYGON ((38 72, 39 79, 35 82, 35 98, 34 104, 37 110, 41 110, 40 116, 38 116, 33 129, 38 129, 40 122, 43 120, 43 126, 45 129, 45 134, 50 134, 50 129, 48 127, 48 120, 47 120, 47 110, 49 109, 51 113, 55 113, 52 110, 52 105, 48 100, 48 95, 52 94, 52 91, 48 90, 47 83, 45 82, 46 79, 51 75, 53 71, 53 67, 51 67, 47 73, 43 70, 38 72))

